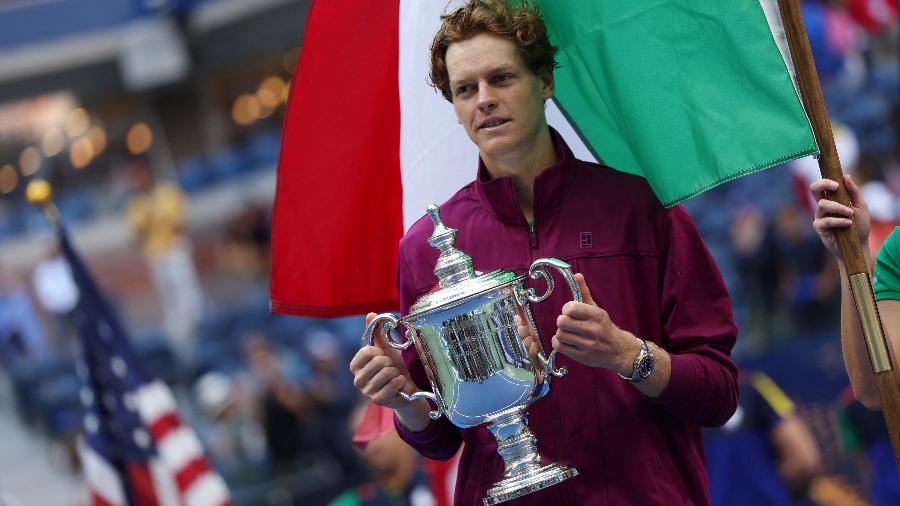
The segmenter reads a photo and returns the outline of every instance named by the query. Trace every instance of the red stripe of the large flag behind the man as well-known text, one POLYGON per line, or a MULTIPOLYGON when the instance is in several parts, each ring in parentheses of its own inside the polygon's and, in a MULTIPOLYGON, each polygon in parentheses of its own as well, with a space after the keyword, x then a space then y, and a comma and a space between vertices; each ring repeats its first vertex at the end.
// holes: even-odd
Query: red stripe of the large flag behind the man
POLYGON ((399 0, 309 9, 278 161, 275 312, 331 317, 399 306, 399 19, 399 0))

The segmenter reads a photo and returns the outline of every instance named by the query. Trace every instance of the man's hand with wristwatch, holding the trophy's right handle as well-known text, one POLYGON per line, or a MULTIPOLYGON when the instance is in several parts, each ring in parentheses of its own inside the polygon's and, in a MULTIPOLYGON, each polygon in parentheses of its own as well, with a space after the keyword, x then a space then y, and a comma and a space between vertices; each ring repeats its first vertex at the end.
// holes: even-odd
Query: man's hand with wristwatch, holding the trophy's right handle
POLYGON ((584 276, 575 274, 584 302, 567 302, 556 319, 553 349, 591 367, 603 367, 631 376, 641 340, 624 331, 609 313, 594 302, 584 276))

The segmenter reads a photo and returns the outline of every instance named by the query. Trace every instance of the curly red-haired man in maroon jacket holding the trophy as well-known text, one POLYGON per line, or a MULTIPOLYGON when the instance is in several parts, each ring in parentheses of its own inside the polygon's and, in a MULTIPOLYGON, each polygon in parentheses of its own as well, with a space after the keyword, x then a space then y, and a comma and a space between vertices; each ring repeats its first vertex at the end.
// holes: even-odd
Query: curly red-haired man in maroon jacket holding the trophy
MULTIPOLYGON (((533 307, 543 348, 559 350, 569 374, 529 410, 540 452, 580 475, 513 503, 708 504, 700 426, 734 412, 736 327, 690 218, 664 209, 643 179, 574 159, 547 126, 556 49, 536 9, 471 0, 442 19, 431 81, 480 155, 476 181, 441 206, 444 223, 479 271, 569 262, 585 301, 557 290, 533 307)), ((400 242, 403 314, 437 283, 431 231, 420 220, 400 242)), ((464 442, 455 502, 481 504, 503 471, 493 436, 404 401, 401 391, 428 385, 422 364, 378 344, 351 361, 354 384, 395 410, 400 437, 424 455, 446 459, 464 442)))

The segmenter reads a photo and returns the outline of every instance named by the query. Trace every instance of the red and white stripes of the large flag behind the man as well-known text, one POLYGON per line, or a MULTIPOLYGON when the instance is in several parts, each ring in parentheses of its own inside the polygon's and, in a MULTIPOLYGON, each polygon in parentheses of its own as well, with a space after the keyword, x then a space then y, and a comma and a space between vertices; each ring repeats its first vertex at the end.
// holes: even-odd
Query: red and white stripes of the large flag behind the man
MULTIPOLYGON (((475 178, 477 148, 427 84, 428 48, 446 8, 440 0, 312 2, 282 130, 275 312, 396 308, 400 236, 475 178)), ((547 120, 576 156, 594 159, 552 101, 547 120)))

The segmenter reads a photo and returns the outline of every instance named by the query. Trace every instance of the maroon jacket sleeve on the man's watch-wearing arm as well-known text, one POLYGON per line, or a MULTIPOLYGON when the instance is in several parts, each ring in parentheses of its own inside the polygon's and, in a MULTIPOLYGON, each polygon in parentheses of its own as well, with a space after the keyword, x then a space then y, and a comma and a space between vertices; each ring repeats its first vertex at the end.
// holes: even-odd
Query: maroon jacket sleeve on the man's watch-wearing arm
POLYGON ((662 342, 672 360, 669 383, 654 402, 692 423, 719 426, 737 408, 737 337, 731 298, 694 223, 680 206, 660 230, 662 342))

